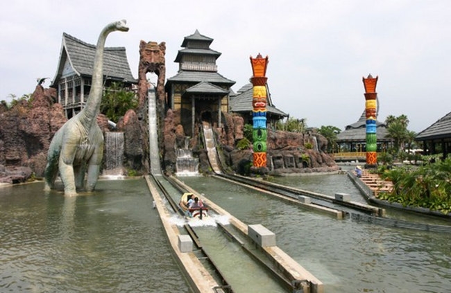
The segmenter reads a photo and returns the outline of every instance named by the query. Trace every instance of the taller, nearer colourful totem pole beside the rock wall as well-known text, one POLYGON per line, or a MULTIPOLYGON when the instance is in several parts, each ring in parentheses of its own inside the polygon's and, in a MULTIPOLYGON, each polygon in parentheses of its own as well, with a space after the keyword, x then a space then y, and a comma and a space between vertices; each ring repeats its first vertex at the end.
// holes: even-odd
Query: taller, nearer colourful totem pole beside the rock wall
POLYGON ((254 168, 266 168, 266 66, 268 56, 263 58, 260 53, 256 58, 250 57, 253 76, 253 165, 254 168))

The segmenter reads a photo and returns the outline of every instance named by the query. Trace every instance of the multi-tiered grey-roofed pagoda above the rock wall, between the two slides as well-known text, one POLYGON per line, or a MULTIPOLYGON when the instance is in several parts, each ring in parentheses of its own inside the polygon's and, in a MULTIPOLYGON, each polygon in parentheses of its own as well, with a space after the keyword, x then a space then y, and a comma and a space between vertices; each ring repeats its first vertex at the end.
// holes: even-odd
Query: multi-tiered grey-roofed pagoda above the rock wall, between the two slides
POLYGON ((198 30, 185 37, 174 61, 179 64, 178 73, 166 82, 167 103, 180 111, 187 136, 193 136, 201 121, 221 127, 221 114, 229 111, 230 87, 235 81, 218 73, 216 60, 221 53, 210 48, 212 42, 198 30))

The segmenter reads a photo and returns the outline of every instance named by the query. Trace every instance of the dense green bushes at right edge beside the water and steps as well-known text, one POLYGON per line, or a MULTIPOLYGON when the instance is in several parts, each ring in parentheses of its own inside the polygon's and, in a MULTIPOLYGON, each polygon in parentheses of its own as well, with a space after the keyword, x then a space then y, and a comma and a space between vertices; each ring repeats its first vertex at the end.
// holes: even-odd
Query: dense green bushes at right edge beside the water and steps
POLYGON ((451 158, 384 170, 383 179, 393 182, 393 191, 380 197, 404 206, 421 206, 431 211, 451 212, 451 158))

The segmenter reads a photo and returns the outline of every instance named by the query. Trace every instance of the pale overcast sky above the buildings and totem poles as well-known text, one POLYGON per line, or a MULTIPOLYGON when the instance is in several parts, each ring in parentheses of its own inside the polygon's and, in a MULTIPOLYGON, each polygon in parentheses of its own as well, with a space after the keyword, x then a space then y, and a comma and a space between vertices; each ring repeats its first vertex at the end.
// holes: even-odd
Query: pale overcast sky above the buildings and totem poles
POLYGON ((135 78, 140 40, 166 42, 171 78, 183 37, 198 29, 214 39, 234 91, 252 76, 250 55, 268 55, 273 103, 310 127, 357 121, 370 73, 379 76, 379 121, 405 114, 420 132, 451 112, 449 0, 15 0, 0 15, 0 100, 54 78, 63 32, 96 44, 106 24, 126 19, 128 33, 111 33, 106 46, 126 48, 135 78))

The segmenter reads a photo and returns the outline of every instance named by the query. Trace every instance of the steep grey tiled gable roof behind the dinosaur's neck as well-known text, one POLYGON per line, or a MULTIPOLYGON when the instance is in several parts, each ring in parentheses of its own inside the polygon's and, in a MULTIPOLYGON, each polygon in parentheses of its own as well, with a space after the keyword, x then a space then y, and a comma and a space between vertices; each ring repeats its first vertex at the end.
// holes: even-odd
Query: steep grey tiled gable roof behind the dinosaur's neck
MULTIPOLYGON (((74 70, 80 76, 92 76, 94 66, 94 56, 96 46, 87 44, 76 37, 67 33, 62 35, 62 51, 60 55, 60 66, 58 66, 57 77, 61 74, 62 65, 65 58, 69 58, 74 70)), ((103 75, 114 80, 124 82, 134 82, 128 64, 126 48, 124 47, 105 47, 103 51, 103 75)))

